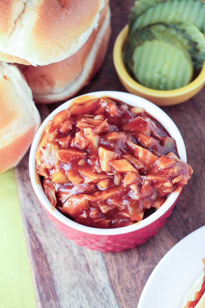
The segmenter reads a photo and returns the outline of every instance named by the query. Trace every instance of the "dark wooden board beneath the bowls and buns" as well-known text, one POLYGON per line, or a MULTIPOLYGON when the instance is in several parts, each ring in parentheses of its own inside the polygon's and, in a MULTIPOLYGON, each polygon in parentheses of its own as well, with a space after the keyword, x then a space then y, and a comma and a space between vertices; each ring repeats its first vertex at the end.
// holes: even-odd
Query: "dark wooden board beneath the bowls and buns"
MULTIPOLYGON (((112 36, 108 53, 101 70, 80 94, 126 91, 116 75, 112 50, 133 3, 134 0, 110 1, 112 36)), ((38 107, 44 119, 57 104, 38 107)), ((178 126, 194 173, 166 225, 134 249, 101 253, 65 239, 35 197, 29 179, 28 153, 15 168, 38 307, 136 307, 149 275, 165 253, 205 224, 205 88, 185 103, 162 109, 178 126)))

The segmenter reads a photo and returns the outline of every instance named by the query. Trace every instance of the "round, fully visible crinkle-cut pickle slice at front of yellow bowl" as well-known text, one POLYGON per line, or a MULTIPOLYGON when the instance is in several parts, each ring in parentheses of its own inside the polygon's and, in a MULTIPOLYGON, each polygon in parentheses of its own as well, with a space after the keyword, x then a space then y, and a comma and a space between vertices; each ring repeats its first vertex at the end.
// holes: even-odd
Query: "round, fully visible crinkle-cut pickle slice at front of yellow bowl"
POLYGON ((172 90, 192 79, 193 66, 183 49, 163 40, 145 41, 136 47, 133 62, 135 78, 145 87, 172 90))

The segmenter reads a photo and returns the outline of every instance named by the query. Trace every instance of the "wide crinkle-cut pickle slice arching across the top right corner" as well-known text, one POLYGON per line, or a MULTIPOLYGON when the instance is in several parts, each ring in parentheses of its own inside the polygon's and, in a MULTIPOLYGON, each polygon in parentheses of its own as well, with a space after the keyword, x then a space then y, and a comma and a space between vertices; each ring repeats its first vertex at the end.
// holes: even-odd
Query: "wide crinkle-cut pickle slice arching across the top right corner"
POLYGON ((142 28, 156 22, 191 22, 200 31, 204 32, 205 3, 201 0, 168 0, 165 2, 157 2, 148 7, 130 23, 129 34, 133 33, 137 28, 142 28))

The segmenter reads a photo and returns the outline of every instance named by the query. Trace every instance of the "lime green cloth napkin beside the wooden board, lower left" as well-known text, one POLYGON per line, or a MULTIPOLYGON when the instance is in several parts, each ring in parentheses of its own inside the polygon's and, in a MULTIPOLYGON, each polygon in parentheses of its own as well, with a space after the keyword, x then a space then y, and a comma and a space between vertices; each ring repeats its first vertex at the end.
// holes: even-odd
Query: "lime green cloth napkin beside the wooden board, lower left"
POLYGON ((0 307, 36 308, 13 169, 0 174, 0 307))

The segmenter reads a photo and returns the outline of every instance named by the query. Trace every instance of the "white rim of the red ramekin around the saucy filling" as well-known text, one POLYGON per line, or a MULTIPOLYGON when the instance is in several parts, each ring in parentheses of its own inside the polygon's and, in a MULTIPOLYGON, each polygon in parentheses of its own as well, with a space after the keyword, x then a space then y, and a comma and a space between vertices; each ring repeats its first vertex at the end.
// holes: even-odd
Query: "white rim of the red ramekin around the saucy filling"
MULTIPOLYGON (((137 107, 143 107, 148 114, 150 114, 152 117, 154 117, 162 126, 167 130, 169 135, 175 140, 177 151, 179 154, 180 159, 187 161, 186 156, 186 149, 183 142, 183 138, 179 132, 179 129, 176 127, 175 123, 171 120, 171 118, 158 106, 151 103, 147 99, 144 99, 142 97, 139 97, 134 94, 130 94, 127 92, 120 92, 120 91, 97 91, 97 92, 91 92, 86 93, 84 95, 79 95, 77 97, 83 97, 83 96, 95 96, 95 97, 101 97, 101 96, 108 96, 110 98, 118 99, 124 103, 127 103, 132 106, 137 107)), ((167 210, 171 207, 171 205, 176 201, 177 197, 179 196, 179 192, 173 192, 170 194, 170 196, 166 199, 166 201, 163 203, 163 205, 154 213, 152 213, 149 217, 145 218, 142 221, 139 221, 137 223, 134 223, 132 225, 128 225, 126 227, 120 227, 120 228, 113 228, 113 229, 101 229, 101 228, 93 228, 88 227, 85 225, 80 225, 79 223, 67 218, 63 214, 61 214, 57 209, 53 208, 45 196, 45 193, 43 192, 43 189, 41 187, 41 184, 37 183, 36 181, 36 159, 34 156, 34 153, 37 150, 38 144, 42 137, 42 132, 45 130, 45 127, 47 126, 47 123, 49 120, 53 119, 53 116, 57 114, 59 111, 62 111, 69 107, 69 105, 72 103, 74 99, 77 97, 74 97, 67 102, 63 103, 61 106, 57 107, 53 112, 49 114, 49 116, 43 121, 39 129, 37 130, 37 133, 34 137, 33 143, 31 145, 30 149, 30 156, 29 156, 29 172, 30 172, 30 179, 32 186, 34 188, 34 192, 41 202, 41 204, 45 207, 45 209, 58 221, 61 223, 76 229, 81 232, 89 233, 89 234, 96 234, 96 235, 116 235, 116 234, 124 234, 129 233, 132 231, 140 230, 157 219, 159 219, 164 213, 167 212, 167 210)))

